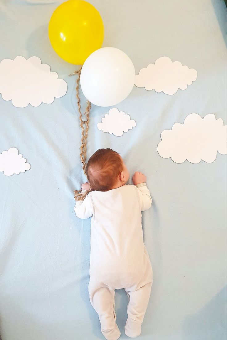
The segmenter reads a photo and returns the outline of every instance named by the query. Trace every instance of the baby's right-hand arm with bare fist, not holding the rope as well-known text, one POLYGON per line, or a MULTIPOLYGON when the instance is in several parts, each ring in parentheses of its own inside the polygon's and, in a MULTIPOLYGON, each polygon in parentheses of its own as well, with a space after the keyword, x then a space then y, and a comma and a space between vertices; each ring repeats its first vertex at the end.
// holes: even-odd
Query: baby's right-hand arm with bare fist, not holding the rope
POLYGON ((141 211, 147 210, 151 207, 152 198, 150 197, 150 190, 146 185, 146 176, 142 172, 135 172, 132 177, 133 184, 136 186, 136 191, 139 199, 141 211))

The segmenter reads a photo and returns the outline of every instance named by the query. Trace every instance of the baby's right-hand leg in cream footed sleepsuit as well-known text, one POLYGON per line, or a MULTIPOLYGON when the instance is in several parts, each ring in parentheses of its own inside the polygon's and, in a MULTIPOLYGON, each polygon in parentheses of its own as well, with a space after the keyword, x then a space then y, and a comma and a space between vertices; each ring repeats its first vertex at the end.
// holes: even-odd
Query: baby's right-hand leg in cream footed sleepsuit
POLYGON ((129 297, 127 308, 128 319, 125 325, 125 334, 130 338, 135 338, 141 333, 141 324, 147 309, 152 283, 149 282, 143 287, 130 291, 125 289, 129 297))

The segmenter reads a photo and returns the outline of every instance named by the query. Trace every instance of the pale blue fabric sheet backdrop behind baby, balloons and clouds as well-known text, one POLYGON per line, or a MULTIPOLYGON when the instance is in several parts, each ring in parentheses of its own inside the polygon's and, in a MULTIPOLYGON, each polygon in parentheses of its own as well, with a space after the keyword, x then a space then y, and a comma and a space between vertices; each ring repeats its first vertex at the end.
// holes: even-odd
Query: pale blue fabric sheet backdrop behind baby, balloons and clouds
MULTIPOLYGON (((16 108, 0 98, 0 152, 17 147, 31 170, 0 173, 0 329, 2 340, 104 339, 87 285, 90 220, 76 218, 75 188, 84 176, 75 100, 77 67, 48 40, 62 1, 0 1, 0 60, 37 55, 68 84, 50 105, 16 108)), ((173 96, 134 87, 116 105, 137 125, 122 137, 97 123, 108 108, 92 106, 88 157, 118 151, 141 170, 153 198, 143 213, 154 283, 138 340, 226 339, 226 156, 211 164, 176 164, 157 153, 160 133, 190 113, 226 124, 226 6, 222 0, 91 0, 100 12, 103 46, 123 50, 136 73, 161 56, 195 68, 198 78, 173 96)), ((85 103, 85 101, 83 100, 85 103)), ((127 297, 116 292, 124 334, 127 297)))

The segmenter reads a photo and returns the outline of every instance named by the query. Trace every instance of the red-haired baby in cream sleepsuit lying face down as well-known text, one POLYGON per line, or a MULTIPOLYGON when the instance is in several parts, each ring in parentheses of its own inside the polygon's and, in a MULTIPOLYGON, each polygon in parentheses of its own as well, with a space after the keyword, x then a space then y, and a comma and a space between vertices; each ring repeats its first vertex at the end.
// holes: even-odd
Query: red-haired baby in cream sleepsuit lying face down
POLYGON ((128 169, 111 149, 95 152, 87 162, 86 175, 89 183, 82 184, 82 199, 74 210, 79 218, 92 216, 90 301, 98 313, 102 334, 116 340, 120 330, 114 295, 115 289, 124 288, 129 298, 125 334, 135 338, 141 333, 152 285, 141 224, 141 211, 149 209, 152 202, 146 176, 135 172, 134 185, 126 185, 128 169), (83 200, 87 191, 90 192, 83 200))

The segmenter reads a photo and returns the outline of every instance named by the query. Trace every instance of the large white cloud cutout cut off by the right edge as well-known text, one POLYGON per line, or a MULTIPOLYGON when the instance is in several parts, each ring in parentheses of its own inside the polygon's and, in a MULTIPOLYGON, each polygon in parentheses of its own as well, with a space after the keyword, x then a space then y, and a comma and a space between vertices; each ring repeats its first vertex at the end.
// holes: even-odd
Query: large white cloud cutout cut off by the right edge
POLYGON ((194 164, 201 160, 212 163, 217 151, 226 154, 227 130, 223 120, 216 120, 213 114, 204 118, 196 113, 188 115, 184 123, 175 123, 171 130, 161 133, 157 151, 163 158, 175 163, 183 163, 186 159, 194 164))

